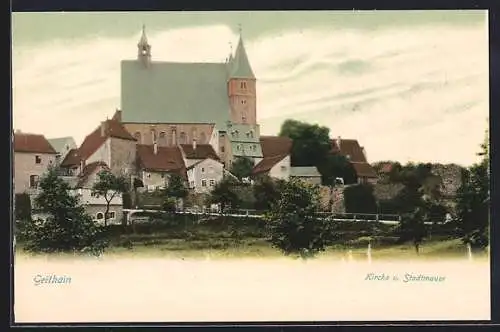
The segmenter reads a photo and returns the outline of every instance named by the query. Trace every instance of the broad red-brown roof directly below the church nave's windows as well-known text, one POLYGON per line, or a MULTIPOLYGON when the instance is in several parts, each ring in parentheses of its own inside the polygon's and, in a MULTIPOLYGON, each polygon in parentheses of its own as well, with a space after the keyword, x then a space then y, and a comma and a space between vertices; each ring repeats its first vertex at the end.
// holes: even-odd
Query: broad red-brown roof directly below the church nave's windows
POLYGON ((137 158, 140 167, 147 171, 173 172, 186 177, 186 166, 178 147, 158 147, 154 154, 152 145, 137 145, 137 158))

